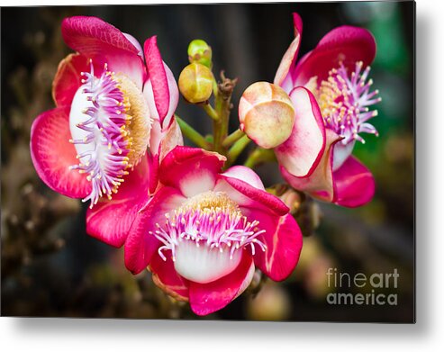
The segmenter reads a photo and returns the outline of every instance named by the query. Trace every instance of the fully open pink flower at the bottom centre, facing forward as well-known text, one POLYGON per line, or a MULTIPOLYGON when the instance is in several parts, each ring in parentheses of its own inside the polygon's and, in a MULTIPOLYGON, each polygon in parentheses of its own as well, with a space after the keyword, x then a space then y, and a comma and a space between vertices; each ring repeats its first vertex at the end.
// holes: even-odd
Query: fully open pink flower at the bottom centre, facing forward
POLYGON ((248 167, 222 173, 221 155, 176 147, 159 166, 162 185, 125 243, 133 274, 149 266, 166 293, 198 315, 218 311, 249 285, 255 266, 276 281, 294 269, 302 234, 285 203, 248 167))

